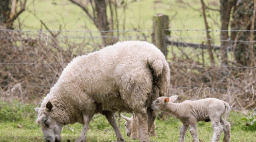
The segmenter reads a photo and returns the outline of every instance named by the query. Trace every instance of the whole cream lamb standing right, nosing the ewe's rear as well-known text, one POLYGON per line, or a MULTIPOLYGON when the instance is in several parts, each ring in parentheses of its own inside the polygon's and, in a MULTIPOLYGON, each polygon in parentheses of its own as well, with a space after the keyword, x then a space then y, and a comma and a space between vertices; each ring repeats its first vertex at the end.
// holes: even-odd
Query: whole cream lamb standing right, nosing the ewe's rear
POLYGON ((196 130, 196 122, 212 121, 214 134, 211 142, 218 142, 223 129, 223 142, 230 142, 230 123, 228 115, 230 106, 225 101, 215 98, 200 99, 197 101, 183 101, 182 103, 173 103, 177 99, 177 95, 171 97, 159 97, 153 101, 151 109, 156 111, 166 111, 176 119, 180 119, 183 125, 180 129, 180 137, 178 142, 184 142, 186 131, 190 125, 190 133, 193 142, 199 142, 196 130), (226 115, 224 120, 222 115, 226 115))

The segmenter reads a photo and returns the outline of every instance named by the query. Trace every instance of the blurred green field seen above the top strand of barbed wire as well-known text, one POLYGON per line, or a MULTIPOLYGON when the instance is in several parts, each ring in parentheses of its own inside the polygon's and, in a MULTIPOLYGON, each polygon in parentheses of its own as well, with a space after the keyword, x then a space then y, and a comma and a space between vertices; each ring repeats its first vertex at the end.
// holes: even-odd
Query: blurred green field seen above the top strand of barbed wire
MULTIPOLYGON (((128 1, 130 2, 130 1, 128 1)), ((201 4, 198 0, 184 0, 193 8, 201 10, 201 4)), ((204 1, 211 8, 219 8, 219 3, 214 0, 204 1)), ((84 2, 89 10, 89 3, 84 2)), ((108 19, 110 19, 109 6, 107 6, 108 19)), ((125 12, 125 23, 123 6, 118 8, 119 30, 147 30, 152 29, 154 14, 163 13, 169 16, 170 29, 205 29, 202 14, 190 8, 187 4, 183 4, 179 0, 137 0, 128 4, 125 12)), ((210 29, 218 30, 220 27, 219 12, 207 11, 208 25, 210 29), (216 23, 212 19, 215 19, 216 23)), ((42 19, 50 30, 59 30, 59 25, 62 24, 61 30, 73 31, 98 31, 88 16, 81 8, 72 4, 68 0, 28 0, 26 10, 19 16, 21 28, 24 30, 38 30, 42 19), (36 18, 37 17, 37 18, 36 18)), ((18 28, 18 20, 14 26, 18 28)), ((43 29, 45 29, 43 27, 43 29)), ((213 32, 212 35, 218 36, 218 32, 213 32)), ((204 38, 204 31, 183 31, 173 32, 172 36, 189 36, 204 38)), ((193 40, 192 40, 193 41, 193 40)))

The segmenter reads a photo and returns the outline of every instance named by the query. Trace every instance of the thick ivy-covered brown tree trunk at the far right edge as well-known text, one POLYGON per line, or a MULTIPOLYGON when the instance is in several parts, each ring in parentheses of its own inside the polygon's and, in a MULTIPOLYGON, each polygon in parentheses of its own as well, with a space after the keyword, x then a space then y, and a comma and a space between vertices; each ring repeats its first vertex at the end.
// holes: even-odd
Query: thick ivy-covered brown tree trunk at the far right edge
MULTIPOLYGON (((241 0, 236 4, 232 14, 231 29, 232 30, 252 30, 252 16, 254 11, 254 0, 241 0)), ((254 30, 255 30, 254 22, 254 30)), ((231 32, 231 39, 237 40, 236 46, 234 46, 233 54, 236 63, 242 66, 250 66, 250 61, 255 55, 255 45, 250 47, 247 42, 240 41, 250 41, 256 40, 256 32, 253 31, 252 37, 250 32, 231 32), (250 39, 250 37, 252 39, 250 39)))

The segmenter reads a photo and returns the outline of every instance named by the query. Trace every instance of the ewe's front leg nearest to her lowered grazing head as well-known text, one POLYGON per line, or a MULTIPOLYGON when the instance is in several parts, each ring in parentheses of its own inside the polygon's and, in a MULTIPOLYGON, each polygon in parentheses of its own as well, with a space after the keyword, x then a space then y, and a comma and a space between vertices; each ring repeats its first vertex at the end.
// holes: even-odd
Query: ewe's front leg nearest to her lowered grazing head
POLYGON ((75 142, 86 142, 87 129, 92 117, 93 116, 90 116, 90 115, 83 115, 83 122, 84 122, 83 129, 80 137, 75 142))

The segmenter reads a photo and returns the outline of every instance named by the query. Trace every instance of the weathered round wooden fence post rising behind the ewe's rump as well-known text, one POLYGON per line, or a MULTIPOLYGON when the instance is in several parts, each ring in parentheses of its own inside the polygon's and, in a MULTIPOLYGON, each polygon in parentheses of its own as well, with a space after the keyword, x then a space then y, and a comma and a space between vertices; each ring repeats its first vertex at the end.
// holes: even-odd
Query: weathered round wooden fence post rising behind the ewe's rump
POLYGON ((165 29, 169 29, 169 17, 162 13, 156 14, 153 17, 153 28, 155 29, 155 45, 166 57, 165 36, 170 35, 170 31, 165 31, 165 29))

